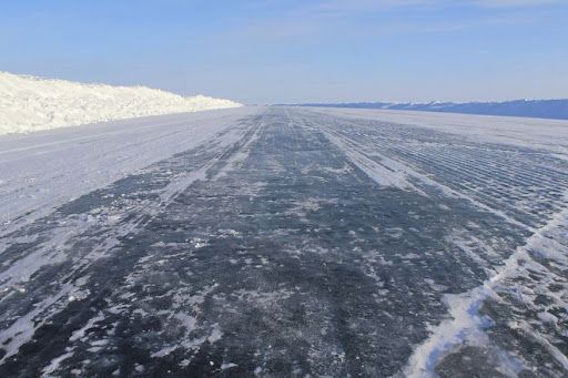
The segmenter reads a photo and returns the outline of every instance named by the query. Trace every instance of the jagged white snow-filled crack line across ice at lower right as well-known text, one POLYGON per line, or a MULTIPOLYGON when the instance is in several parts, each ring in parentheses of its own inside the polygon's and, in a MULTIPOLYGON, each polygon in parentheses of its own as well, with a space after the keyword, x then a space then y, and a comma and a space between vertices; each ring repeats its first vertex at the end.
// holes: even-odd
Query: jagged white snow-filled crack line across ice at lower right
MULTIPOLYGON (((561 266, 568 266, 568 246, 555 244, 550 248, 549 239, 555 235, 560 236, 568 229, 568 208, 564 208, 545 226, 538 228, 526 242, 511 254, 500 269, 481 286, 459 295, 446 295, 446 304, 450 318, 432 328, 432 334, 419 345, 410 356, 407 366, 402 371, 405 377, 433 377, 435 368, 440 359, 455 347, 468 343, 473 345, 488 345, 489 339, 484 328, 487 318, 479 315, 479 309, 488 298, 503 300, 499 296, 499 286, 506 285, 505 280, 519 275, 526 275, 527 266, 547 270, 536 262, 530 252, 537 252, 551 262, 561 266)), ((564 236, 566 237, 566 235, 564 236)), ((550 273, 551 274, 551 273, 550 273)), ((557 298, 561 300, 560 298, 557 298)), ((564 303, 565 308, 568 304, 564 303)), ((528 323, 521 321, 517 328, 525 330, 532 340, 539 344, 550 356, 568 371, 568 358, 542 335, 534 331, 528 323), (528 328, 528 329, 527 329, 528 328)))

